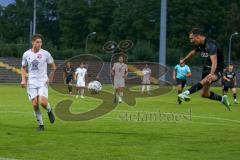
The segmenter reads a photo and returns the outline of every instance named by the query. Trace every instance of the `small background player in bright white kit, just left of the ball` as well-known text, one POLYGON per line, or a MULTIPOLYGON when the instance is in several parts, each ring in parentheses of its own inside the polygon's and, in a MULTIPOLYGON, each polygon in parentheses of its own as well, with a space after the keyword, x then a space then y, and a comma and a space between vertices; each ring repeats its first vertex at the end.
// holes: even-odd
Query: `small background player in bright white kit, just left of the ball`
POLYGON ((84 64, 81 63, 80 67, 76 69, 75 72, 75 80, 77 81, 76 87, 78 94, 76 95, 76 98, 78 98, 78 95, 80 94, 81 98, 84 98, 84 89, 86 86, 87 81, 87 69, 84 68, 84 64))

